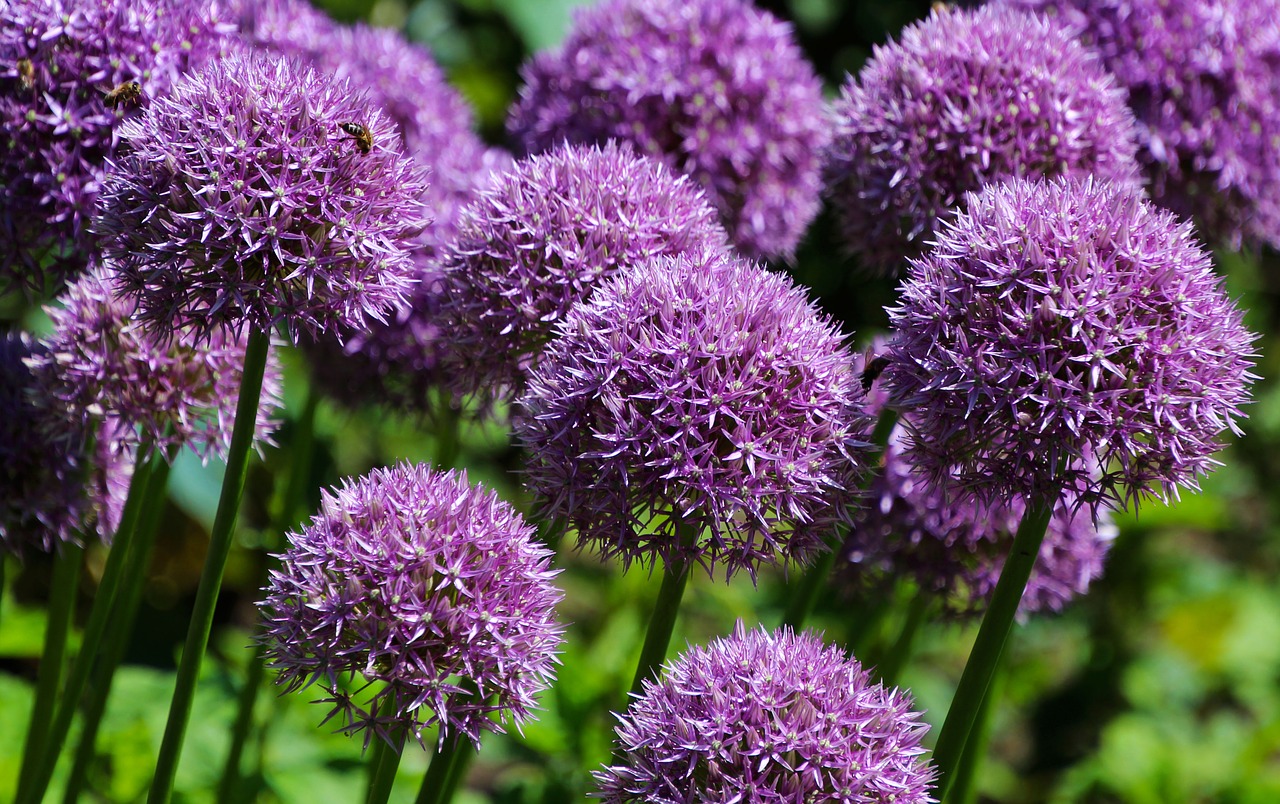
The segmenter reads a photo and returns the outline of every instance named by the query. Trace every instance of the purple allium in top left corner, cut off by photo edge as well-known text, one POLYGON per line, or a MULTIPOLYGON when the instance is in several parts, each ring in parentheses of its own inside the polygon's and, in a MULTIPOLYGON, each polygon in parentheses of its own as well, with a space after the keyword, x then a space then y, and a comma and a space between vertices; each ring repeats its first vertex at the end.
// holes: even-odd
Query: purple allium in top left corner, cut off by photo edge
POLYGON ((209 0, 0 0, 0 287, 84 270, 118 125, 220 52, 209 0), (137 83, 140 95, 113 95, 137 83))

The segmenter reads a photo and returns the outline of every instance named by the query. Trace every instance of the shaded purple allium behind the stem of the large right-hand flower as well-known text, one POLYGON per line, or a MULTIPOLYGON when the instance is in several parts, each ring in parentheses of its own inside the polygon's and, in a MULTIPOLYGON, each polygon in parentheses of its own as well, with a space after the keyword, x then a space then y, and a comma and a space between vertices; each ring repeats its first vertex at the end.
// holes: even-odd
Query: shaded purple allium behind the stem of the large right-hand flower
MULTIPOLYGON (((868 393, 869 412, 878 414, 883 403, 877 383, 868 393)), ((1027 506, 1020 498, 982 502, 940 488, 915 471, 908 439, 899 425, 884 451, 883 469, 854 515, 844 547, 849 565, 842 585, 860 595, 879 595, 900 580, 913 580, 938 598, 948 615, 980 615, 1027 506)), ((1060 501, 1019 612, 1059 611, 1084 594, 1102 574, 1115 535, 1106 511, 1094 522, 1089 511, 1060 501)))

